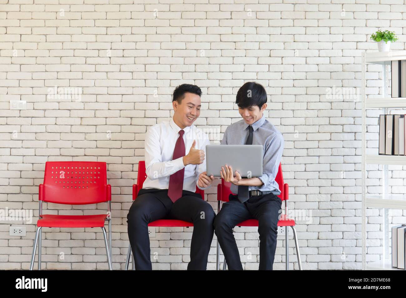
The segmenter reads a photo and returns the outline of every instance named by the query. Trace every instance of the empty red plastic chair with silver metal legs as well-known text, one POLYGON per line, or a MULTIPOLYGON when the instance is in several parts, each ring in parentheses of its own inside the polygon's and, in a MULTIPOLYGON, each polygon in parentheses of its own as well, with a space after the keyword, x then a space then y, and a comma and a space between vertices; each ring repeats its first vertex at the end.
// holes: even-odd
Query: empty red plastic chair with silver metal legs
POLYGON ((111 186, 107 184, 107 166, 95 161, 47 161, 43 184, 39 184, 39 220, 35 233, 30 270, 34 266, 38 242, 38 270, 41 270, 41 229, 43 227, 100 227, 109 270, 111 268, 111 186), (106 214, 42 214, 42 202, 86 205, 107 202, 106 214), (104 222, 108 221, 108 240, 104 222))

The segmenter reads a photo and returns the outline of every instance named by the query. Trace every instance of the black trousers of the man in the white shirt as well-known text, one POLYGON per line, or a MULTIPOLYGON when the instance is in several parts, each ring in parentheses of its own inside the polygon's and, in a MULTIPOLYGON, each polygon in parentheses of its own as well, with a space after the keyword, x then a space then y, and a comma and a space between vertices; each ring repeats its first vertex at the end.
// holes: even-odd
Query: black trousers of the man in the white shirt
POLYGON ((167 189, 141 189, 127 215, 135 269, 152 270, 148 223, 158 219, 180 219, 194 225, 188 270, 206 270, 215 216, 212 206, 197 193, 184 190, 182 197, 173 203, 167 189))

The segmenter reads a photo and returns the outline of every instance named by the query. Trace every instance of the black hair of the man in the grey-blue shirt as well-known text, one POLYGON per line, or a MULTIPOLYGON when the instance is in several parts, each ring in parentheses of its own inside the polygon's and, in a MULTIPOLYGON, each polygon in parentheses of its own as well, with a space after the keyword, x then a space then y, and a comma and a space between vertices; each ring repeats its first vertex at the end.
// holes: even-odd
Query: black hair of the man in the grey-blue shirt
POLYGON ((235 103, 238 107, 246 109, 257 105, 259 109, 266 103, 266 91, 261 84, 255 82, 246 82, 238 89, 235 103))

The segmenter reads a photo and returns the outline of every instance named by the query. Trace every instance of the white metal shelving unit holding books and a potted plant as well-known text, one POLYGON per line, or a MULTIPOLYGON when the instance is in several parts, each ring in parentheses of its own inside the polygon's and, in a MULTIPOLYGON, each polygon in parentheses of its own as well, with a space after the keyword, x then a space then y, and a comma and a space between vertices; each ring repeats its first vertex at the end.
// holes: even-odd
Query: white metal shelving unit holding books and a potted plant
POLYGON ((392 268, 389 255, 389 209, 406 209, 404 195, 389 193, 388 165, 406 165, 406 156, 396 155, 367 155, 366 154, 366 109, 380 108, 382 114, 389 114, 388 110, 406 109, 406 98, 391 98, 389 96, 388 66, 392 60, 406 60, 406 50, 390 52, 362 53, 362 269, 363 270, 403 270, 392 268), (382 98, 367 99, 365 96, 366 63, 382 65, 382 98), (366 164, 383 165, 382 194, 366 195, 366 164), (383 209, 383 255, 377 262, 366 263, 366 208, 383 209))

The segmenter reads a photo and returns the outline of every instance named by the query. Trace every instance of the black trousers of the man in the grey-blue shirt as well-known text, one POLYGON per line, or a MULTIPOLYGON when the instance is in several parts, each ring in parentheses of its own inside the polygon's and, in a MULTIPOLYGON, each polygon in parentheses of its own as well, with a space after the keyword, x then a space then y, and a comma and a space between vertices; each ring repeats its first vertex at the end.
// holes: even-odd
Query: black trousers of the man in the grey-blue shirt
POLYGON ((233 228, 247 219, 259 221, 259 270, 272 270, 281 207, 281 199, 272 193, 250 196, 244 203, 241 203, 236 195, 231 194, 229 202, 223 203, 220 212, 214 219, 214 232, 229 270, 242 270, 233 228))

